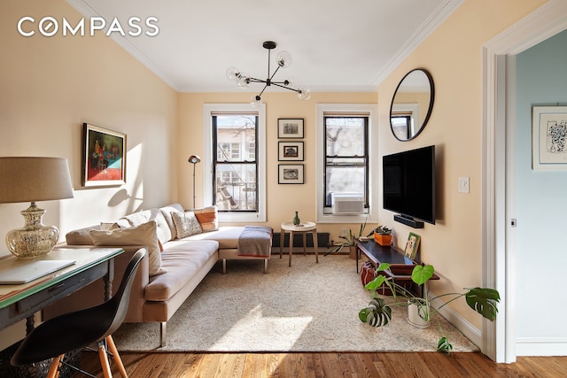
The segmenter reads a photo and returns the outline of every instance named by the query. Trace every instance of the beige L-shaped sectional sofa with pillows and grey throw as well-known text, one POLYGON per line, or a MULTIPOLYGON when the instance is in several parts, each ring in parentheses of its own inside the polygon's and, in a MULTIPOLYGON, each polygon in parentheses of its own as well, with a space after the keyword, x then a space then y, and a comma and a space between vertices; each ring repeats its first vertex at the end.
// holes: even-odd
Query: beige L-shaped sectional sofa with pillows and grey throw
MULTIPOLYGON (((272 235, 265 227, 219 227, 216 206, 185 211, 181 204, 169 204, 73 230, 66 234, 66 244, 122 247, 124 253, 114 258, 114 282, 120 282, 136 251, 148 251, 136 273, 124 321, 159 322, 163 346, 167 320, 217 261, 222 261, 223 274, 232 259, 263 260, 263 272, 268 272, 272 235)), ((103 293, 103 283, 94 282, 45 309, 43 317, 97 305, 104 300, 103 293)))

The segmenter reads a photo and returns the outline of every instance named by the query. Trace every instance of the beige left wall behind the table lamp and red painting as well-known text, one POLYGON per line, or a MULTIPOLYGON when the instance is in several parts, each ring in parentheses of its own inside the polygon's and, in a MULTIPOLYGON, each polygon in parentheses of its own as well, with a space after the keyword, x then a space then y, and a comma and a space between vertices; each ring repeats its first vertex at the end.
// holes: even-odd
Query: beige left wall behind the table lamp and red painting
MULTIPOLYGON (((47 15, 72 23, 82 17, 65 0, 3 0, 0 12, 0 156, 69 159, 74 198, 40 203, 44 223, 65 235, 174 198, 175 90, 105 35, 19 35, 21 17, 47 15), (128 135, 126 185, 81 188, 82 122, 128 135)), ((19 211, 27 205, 0 204, 3 238, 23 226, 19 211)), ((0 339, 0 349, 15 341, 6 332, 0 339)))

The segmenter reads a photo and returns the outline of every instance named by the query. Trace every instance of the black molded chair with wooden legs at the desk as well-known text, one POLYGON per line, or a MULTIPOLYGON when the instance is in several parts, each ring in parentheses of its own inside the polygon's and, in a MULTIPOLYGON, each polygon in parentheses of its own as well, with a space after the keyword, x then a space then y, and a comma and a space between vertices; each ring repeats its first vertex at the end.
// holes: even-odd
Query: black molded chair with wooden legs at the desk
POLYGON ((128 378, 111 335, 124 321, 132 282, 145 253, 145 250, 136 251, 126 267, 116 294, 104 304, 47 320, 30 332, 12 356, 12 365, 23 366, 53 358, 47 378, 55 378, 65 353, 97 343, 103 373, 105 378, 110 378, 112 373, 106 344, 120 375, 128 378))

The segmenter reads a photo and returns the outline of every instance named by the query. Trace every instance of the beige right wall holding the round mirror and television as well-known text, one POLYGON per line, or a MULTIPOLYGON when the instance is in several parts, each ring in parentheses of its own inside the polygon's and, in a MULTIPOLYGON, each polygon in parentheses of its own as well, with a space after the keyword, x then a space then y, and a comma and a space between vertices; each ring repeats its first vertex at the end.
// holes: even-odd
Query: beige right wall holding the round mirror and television
MULTIPOLYGON (((410 231, 422 236, 423 261, 441 275, 433 292, 461 291, 481 283, 481 125, 482 46, 545 1, 468 0, 435 30, 378 88, 380 155, 436 145, 438 220, 414 230, 392 224, 392 212, 381 210, 381 222, 392 224, 400 246, 410 231), (430 71, 435 104, 429 124, 416 140, 401 143, 388 127, 389 101, 398 82, 411 69, 430 71), (470 193, 457 191, 460 176, 470 177, 470 193)), ((455 311, 480 328, 481 317, 463 300, 455 311)))

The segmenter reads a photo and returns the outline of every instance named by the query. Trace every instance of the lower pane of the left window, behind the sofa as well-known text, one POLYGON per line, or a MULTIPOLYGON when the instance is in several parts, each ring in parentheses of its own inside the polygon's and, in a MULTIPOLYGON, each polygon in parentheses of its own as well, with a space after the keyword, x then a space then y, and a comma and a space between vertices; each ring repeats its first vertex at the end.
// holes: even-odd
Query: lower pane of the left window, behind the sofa
POLYGON ((214 193, 220 211, 256 211, 255 164, 217 164, 214 193))

